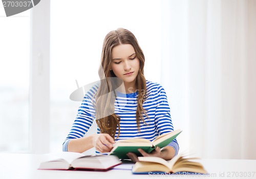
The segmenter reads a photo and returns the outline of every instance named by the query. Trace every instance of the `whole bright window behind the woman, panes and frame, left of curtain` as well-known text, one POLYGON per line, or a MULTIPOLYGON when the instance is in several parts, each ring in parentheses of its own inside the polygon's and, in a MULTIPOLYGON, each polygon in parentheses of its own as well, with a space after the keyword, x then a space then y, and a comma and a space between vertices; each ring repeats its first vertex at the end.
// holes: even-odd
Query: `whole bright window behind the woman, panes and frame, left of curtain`
MULTIPOLYGON (((44 11, 36 11, 34 19, 48 15, 48 2, 40 2, 44 11)), ((122 5, 122 2, 114 0, 76 0, 72 2, 72 5, 76 5, 75 9, 72 8, 70 1, 66 0, 55 0, 50 3, 50 129, 47 124, 48 119, 46 122, 41 122, 43 117, 29 119, 31 114, 34 116, 38 114, 38 110, 34 111, 29 105, 29 100, 34 99, 33 96, 29 99, 29 86, 33 82, 29 81, 31 75, 29 72, 42 70, 39 68, 40 61, 35 60, 35 65, 30 64, 30 51, 36 56, 40 52, 34 52, 32 48, 39 47, 46 57, 49 52, 46 48, 49 46, 47 42, 44 45, 40 42, 43 41, 42 38, 48 39, 49 35, 41 29, 41 23, 34 23, 31 26, 31 10, 7 18, 4 8, 0 8, 1 152, 48 152, 48 145, 41 150, 41 146, 33 147, 40 142, 44 145, 48 143, 48 138, 40 136, 43 135, 42 132, 50 132, 50 152, 62 150, 62 142, 68 135, 81 103, 69 99, 70 94, 77 88, 75 80, 78 81, 79 86, 99 80, 98 67, 102 43, 106 33, 111 30, 122 27, 135 34, 146 58, 146 79, 160 82, 161 1, 131 0, 122 5), (31 27, 40 37, 40 42, 33 40, 33 47, 30 47, 31 27), (30 132, 31 128, 34 135, 32 135, 33 131, 30 132), (35 132, 37 129, 40 131, 35 132), (38 137, 41 140, 36 141, 38 137)), ((49 25, 48 21, 40 22, 49 25)), ((43 78, 47 79, 49 75, 47 64, 44 65, 43 70, 43 78)), ((48 81, 47 85, 49 85, 48 81)), ((41 92, 40 88, 35 90, 37 90, 36 94, 41 92)), ((47 95, 45 93, 45 96, 47 95)), ((42 111, 48 110, 47 107, 44 105, 42 111)), ((94 132, 95 129, 96 125, 90 132, 94 132)))

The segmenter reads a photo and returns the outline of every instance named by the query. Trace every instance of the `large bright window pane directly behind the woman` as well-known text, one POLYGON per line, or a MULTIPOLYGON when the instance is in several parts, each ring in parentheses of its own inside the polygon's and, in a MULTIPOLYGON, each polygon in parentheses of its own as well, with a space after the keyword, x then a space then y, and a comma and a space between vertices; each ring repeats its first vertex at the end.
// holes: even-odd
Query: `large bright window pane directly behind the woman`
POLYGON ((159 82, 161 74, 161 1, 72 4, 76 8, 67 0, 51 1, 51 151, 61 150, 81 104, 69 99, 77 88, 75 80, 79 86, 99 80, 106 33, 119 27, 133 32, 145 54, 146 79, 159 82))

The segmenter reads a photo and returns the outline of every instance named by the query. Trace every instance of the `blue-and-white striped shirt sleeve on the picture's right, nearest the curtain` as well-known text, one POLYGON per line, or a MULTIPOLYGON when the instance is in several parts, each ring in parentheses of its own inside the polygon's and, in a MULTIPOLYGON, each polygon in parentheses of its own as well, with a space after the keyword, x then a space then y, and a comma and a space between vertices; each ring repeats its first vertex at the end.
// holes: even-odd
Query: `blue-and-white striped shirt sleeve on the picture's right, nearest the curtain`
MULTIPOLYGON (((172 118, 170 117, 170 107, 167 101, 167 96, 164 91, 164 88, 161 85, 159 85, 158 87, 155 123, 159 135, 174 130, 172 118)), ((175 155, 178 154, 179 144, 176 138, 172 142, 170 142, 168 146, 171 146, 175 149, 175 155)))

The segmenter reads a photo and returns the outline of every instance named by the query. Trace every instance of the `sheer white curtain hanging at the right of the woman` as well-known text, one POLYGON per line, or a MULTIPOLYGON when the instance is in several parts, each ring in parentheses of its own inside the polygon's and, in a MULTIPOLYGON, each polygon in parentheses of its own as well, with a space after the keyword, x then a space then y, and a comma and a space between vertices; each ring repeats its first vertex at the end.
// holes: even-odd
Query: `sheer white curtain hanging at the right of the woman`
POLYGON ((256 1, 162 1, 162 78, 181 150, 256 159, 256 1))

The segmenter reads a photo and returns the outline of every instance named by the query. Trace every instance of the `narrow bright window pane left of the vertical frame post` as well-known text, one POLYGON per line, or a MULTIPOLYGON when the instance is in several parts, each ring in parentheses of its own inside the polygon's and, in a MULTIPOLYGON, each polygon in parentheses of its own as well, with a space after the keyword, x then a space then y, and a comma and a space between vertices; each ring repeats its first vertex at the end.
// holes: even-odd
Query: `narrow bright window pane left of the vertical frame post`
POLYGON ((29 151, 30 11, 0 8, 0 151, 29 151))

